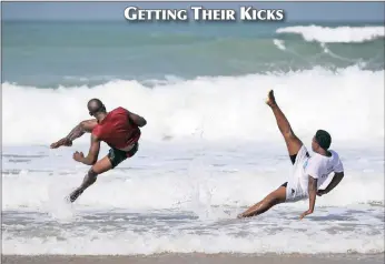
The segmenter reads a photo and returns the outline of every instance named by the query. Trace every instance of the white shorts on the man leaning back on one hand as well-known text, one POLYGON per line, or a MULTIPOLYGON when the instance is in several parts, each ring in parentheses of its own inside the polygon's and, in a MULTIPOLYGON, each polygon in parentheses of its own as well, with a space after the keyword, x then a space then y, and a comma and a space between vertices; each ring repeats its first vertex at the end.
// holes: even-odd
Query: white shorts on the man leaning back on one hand
POLYGON ((292 172, 286 185, 286 202, 294 203, 300 200, 308 197, 307 190, 304 190, 306 186, 302 186, 300 180, 304 176, 303 165, 304 162, 309 158, 307 149, 305 145, 300 148, 297 153, 295 163, 293 164, 292 172))

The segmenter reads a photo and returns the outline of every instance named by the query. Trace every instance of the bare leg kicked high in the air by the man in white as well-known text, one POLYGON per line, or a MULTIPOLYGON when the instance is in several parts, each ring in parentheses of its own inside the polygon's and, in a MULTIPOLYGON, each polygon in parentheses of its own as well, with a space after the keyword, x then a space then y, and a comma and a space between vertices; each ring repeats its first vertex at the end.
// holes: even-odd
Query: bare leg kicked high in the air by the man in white
POLYGON ((303 142, 294 134, 289 122, 287 121, 285 114, 282 112, 275 100, 273 90, 268 92, 266 104, 269 105, 273 110, 274 116, 277 121, 278 129, 285 139, 287 151, 290 158, 295 156, 299 152, 303 142))

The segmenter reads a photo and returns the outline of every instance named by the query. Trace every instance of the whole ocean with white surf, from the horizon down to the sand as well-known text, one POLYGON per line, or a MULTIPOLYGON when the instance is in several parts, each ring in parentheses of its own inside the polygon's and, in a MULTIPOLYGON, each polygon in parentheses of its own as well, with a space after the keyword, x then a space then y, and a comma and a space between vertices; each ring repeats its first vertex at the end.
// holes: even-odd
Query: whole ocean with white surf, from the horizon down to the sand
POLYGON ((384 47, 373 23, 4 22, 2 253, 384 253, 384 47), (303 221, 307 201, 236 220, 290 170, 269 89, 309 150, 328 130, 344 162, 303 221), (49 144, 91 98, 148 125, 68 205, 89 136, 49 144))

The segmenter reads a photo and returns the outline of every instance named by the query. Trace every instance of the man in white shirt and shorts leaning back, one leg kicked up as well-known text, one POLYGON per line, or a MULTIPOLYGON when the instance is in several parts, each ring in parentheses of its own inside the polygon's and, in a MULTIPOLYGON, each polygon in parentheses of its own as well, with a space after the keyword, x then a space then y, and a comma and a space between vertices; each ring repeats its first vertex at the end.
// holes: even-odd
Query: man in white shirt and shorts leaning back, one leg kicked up
POLYGON ((332 143, 328 132, 324 130, 316 132, 312 142, 312 149, 315 154, 310 158, 306 146, 294 134, 289 122, 279 109, 273 90, 269 91, 266 103, 273 110, 278 129, 285 139, 293 170, 287 182, 268 194, 259 203, 239 214, 238 219, 259 215, 279 203, 308 199, 309 209, 300 215, 299 219, 303 219, 314 212, 316 195, 322 196, 330 192, 343 180, 344 166, 338 154, 333 150, 328 150, 332 143), (319 189, 332 172, 334 172, 332 182, 326 189, 319 189))

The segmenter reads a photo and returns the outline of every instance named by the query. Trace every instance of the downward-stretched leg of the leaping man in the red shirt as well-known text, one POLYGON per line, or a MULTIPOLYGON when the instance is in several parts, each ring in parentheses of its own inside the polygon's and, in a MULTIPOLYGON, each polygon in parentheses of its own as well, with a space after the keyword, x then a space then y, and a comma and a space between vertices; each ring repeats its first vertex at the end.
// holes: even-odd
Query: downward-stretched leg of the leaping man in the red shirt
POLYGON ((98 161, 86 174, 83 182, 81 183, 81 185, 76 189, 70 195, 69 199, 71 201, 71 203, 73 203, 79 196, 80 194, 83 193, 83 191, 91 186, 96 180, 97 176, 103 172, 107 172, 109 170, 112 169, 112 164, 110 162, 110 160, 105 156, 103 159, 101 159, 100 161, 98 161))

